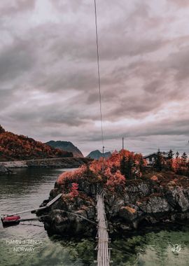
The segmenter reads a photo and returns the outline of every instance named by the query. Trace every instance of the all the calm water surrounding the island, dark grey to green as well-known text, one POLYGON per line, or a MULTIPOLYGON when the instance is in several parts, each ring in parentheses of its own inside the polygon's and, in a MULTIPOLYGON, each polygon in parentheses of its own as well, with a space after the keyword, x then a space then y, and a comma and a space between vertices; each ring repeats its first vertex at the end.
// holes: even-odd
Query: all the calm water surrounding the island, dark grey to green
MULTIPOLYGON (((0 214, 38 207, 48 198, 57 176, 64 170, 16 169, 12 176, 0 176, 0 214)), ((31 216, 34 217, 25 214, 22 218, 31 216)), ((50 237, 38 221, 9 228, 0 225, 1 266, 92 266, 95 245, 94 239, 50 237)), ((111 248, 113 266, 188 266, 189 227, 117 237, 112 239, 111 248), (174 244, 181 245, 180 253, 172 251, 174 244)))

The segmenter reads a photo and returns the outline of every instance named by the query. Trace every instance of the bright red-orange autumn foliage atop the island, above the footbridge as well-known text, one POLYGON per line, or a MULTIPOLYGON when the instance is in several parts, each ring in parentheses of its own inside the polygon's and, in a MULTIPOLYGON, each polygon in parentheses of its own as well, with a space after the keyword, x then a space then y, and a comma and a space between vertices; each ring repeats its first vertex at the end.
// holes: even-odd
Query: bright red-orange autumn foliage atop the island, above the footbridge
POLYGON ((59 176, 58 183, 61 184, 65 193, 71 193, 70 183, 83 183, 89 186, 92 183, 102 183, 104 188, 110 191, 122 190, 125 182, 131 177, 141 177, 141 169, 146 165, 141 154, 122 150, 115 151, 110 158, 93 160, 90 165, 83 165, 73 172, 65 172, 59 176), (103 166, 103 167, 102 167, 103 166), (104 172, 102 172, 104 168, 104 172))

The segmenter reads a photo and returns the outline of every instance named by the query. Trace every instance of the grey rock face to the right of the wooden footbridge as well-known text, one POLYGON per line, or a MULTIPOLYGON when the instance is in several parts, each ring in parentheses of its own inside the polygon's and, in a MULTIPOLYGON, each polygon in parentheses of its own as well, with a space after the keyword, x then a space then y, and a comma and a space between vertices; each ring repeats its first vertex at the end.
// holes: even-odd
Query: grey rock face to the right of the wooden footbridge
POLYGON ((123 194, 106 195, 111 228, 139 228, 141 224, 175 223, 189 218, 189 189, 157 186, 154 181, 130 182, 123 194))

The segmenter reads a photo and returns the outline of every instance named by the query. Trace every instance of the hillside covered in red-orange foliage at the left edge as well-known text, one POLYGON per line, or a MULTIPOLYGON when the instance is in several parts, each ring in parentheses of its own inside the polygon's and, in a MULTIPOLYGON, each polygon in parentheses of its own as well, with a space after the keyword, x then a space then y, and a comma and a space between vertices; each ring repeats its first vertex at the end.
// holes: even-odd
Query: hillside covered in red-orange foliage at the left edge
POLYGON ((73 154, 52 148, 29 137, 5 131, 0 125, 0 161, 57 157, 73 157, 73 154))

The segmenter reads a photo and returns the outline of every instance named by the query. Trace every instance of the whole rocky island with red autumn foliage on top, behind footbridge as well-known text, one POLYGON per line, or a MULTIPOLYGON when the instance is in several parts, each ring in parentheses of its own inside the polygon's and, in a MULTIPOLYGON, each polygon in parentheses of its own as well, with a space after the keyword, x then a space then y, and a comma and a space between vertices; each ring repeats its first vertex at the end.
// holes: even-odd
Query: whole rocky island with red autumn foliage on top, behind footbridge
POLYGON ((63 173, 50 191, 49 200, 63 195, 50 209, 45 229, 64 236, 92 235, 96 195, 102 190, 110 233, 149 224, 185 223, 189 218, 188 160, 165 161, 158 156, 153 167, 146 167, 142 155, 123 150, 63 173))

